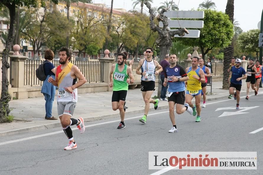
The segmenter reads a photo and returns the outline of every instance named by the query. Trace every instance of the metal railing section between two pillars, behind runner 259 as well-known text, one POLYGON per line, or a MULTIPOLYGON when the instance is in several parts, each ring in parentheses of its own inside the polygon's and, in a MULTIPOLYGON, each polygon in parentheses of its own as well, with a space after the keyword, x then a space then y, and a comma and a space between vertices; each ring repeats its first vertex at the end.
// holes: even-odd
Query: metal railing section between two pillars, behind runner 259
MULTIPOLYGON (((24 85, 42 85, 43 81, 40 81, 36 75, 35 70, 42 63, 42 60, 25 60, 25 76, 24 85)), ((55 67, 59 66, 59 61, 52 61, 55 67)), ((104 82, 103 70, 104 61, 71 61, 82 72, 88 83, 104 82)))

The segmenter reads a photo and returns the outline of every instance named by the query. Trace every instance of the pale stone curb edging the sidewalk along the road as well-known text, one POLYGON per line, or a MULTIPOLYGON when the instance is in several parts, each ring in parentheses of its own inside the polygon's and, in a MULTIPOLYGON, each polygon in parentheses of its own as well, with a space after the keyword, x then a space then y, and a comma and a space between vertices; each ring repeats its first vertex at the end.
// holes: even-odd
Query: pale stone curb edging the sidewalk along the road
MULTIPOLYGON (((241 95, 246 94, 246 92, 242 92, 240 93, 241 95)), ((218 99, 228 99, 228 95, 223 95, 223 96, 219 96, 219 97, 211 97, 211 98, 207 98, 206 101, 214 101, 214 100, 218 100, 218 99)), ((194 101, 194 99, 192 100, 194 101)), ((154 107, 150 107, 150 109, 154 109, 154 107)), ((169 105, 163 105, 163 106, 158 106, 158 109, 169 109, 169 105)), ((143 113, 144 109, 138 109, 138 110, 133 110, 133 111, 127 111, 125 112, 125 115, 131 115, 131 114, 136 114, 136 113, 143 113)), ((90 122, 90 121, 95 121, 95 120, 103 120, 103 119, 109 119, 109 118, 115 118, 116 116, 119 116, 119 113, 113 113, 113 114, 107 114, 107 115, 98 115, 98 116, 92 116, 92 117, 83 117, 83 119, 86 122, 90 122)), ((49 128, 54 128, 54 127, 59 127, 61 126, 60 122, 54 122, 54 123, 47 123, 44 125, 36 125, 36 126, 32 126, 32 127, 25 127, 25 128, 20 128, 20 129, 15 129, 15 130, 10 130, 10 131, 5 131, 5 132, 1 132, 0 133, 0 137, 4 137, 4 136, 11 136, 11 135, 15 135, 15 134, 20 134, 20 133, 25 133, 27 131, 35 131, 35 130, 46 130, 49 128)))

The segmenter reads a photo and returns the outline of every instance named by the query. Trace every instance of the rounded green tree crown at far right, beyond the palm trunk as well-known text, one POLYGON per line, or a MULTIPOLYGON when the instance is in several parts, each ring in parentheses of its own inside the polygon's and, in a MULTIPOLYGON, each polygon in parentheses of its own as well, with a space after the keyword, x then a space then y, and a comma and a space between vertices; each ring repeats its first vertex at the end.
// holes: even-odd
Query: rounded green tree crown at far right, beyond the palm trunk
POLYGON ((253 53, 259 51, 258 42, 259 42, 259 29, 249 30, 243 32, 238 36, 238 48, 242 52, 253 53))

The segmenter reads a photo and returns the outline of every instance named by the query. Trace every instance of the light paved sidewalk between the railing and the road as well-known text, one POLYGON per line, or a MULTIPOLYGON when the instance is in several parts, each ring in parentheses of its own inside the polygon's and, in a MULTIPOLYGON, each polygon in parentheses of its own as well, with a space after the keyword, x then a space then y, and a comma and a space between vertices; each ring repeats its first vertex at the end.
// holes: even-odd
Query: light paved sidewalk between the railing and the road
MULTIPOLYGON (((206 101, 228 98, 228 90, 223 90, 222 84, 222 82, 213 82, 212 95, 207 95, 206 101)), ((246 82, 244 80, 242 85, 241 96, 244 96, 246 94, 246 82)), ((210 86, 207 86, 207 92, 210 93, 210 86)), ((153 92, 152 97, 155 95, 157 95, 157 89, 153 92)), ((250 95, 254 95, 254 91, 251 91, 250 95)), ((113 111, 111 108, 111 96, 112 91, 78 94, 78 102, 73 115, 74 118, 83 117, 85 121, 113 117, 119 119, 119 111, 113 111)), ((57 117, 56 103, 55 98, 52 109, 54 117, 57 117)), ((129 89, 126 97, 126 106, 128 107, 126 115, 137 113, 143 115, 145 103, 139 88, 129 89)), ((12 109, 10 115, 14 115, 14 122, 0 123, 0 137, 36 129, 44 130, 61 126, 60 120, 45 120, 44 96, 43 98, 12 100, 9 102, 9 107, 12 109)), ((151 105, 150 111, 152 109, 153 105, 151 105)), ((158 109, 169 109, 168 102, 160 101, 158 109)))

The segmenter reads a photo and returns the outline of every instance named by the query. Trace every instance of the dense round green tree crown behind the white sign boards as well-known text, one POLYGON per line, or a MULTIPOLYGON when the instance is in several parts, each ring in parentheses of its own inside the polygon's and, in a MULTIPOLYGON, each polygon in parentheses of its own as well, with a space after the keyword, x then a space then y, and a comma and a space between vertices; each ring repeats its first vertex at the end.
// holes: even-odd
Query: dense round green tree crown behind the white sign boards
MULTIPOLYGON (((197 19, 194 19, 197 20, 197 19)), ((223 12, 204 10, 204 27, 199 38, 174 38, 184 45, 199 46, 204 55, 212 48, 227 47, 233 37, 233 24, 228 15, 223 12)))

